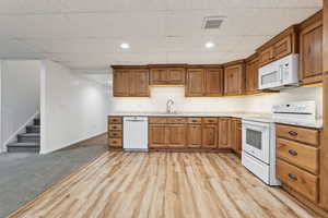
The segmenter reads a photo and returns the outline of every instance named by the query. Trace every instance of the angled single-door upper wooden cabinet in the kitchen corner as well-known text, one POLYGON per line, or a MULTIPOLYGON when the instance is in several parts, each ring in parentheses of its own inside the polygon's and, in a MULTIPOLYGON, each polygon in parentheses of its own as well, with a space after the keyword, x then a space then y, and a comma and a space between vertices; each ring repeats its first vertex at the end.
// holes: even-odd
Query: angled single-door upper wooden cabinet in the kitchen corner
POLYGON ((245 63, 235 61, 224 66, 224 95, 236 96, 245 92, 245 63))

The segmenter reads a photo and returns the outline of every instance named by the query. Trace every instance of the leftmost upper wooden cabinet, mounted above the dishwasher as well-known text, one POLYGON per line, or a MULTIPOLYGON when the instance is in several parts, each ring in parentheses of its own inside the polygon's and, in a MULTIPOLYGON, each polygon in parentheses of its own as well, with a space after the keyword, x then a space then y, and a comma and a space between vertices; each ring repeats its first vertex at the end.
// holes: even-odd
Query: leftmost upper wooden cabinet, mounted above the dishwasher
POLYGON ((113 72, 114 97, 149 97, 149 70, 117 68, 113 72))

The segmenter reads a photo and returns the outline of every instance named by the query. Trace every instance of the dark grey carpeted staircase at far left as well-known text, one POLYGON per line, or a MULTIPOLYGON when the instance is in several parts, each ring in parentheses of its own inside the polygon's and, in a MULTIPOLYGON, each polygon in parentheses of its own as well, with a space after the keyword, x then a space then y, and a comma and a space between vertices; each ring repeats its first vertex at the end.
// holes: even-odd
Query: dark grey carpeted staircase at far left
POLYGON ((39 119, 34 119, 33 125, 26 126, 26 133, 17 135, 17 142, 7 145, 8 153, 39 152, 39 119))

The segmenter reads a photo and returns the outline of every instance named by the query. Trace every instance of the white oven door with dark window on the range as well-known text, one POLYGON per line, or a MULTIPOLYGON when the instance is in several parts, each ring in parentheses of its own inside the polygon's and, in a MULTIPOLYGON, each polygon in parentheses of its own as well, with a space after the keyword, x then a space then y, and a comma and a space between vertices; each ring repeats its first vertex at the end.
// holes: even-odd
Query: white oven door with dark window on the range
POLYGON ((269 165, 270 124, 243 120, 243 150, 269 165))

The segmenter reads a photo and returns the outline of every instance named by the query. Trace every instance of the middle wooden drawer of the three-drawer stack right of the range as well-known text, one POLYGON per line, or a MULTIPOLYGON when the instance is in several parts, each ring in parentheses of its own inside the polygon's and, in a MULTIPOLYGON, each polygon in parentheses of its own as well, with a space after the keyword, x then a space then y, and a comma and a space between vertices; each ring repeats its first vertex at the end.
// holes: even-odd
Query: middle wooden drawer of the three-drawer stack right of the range
POLYGON ((277 156, 313 173, 318 173, 318 149, 289 140, 278 138, 277 156))

